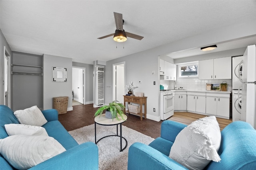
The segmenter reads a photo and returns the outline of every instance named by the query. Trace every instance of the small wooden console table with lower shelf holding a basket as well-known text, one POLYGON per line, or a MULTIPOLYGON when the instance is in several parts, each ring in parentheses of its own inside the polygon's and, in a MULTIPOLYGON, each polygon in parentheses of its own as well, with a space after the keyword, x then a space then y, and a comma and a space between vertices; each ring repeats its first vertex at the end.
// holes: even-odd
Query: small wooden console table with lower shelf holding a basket
POLYGON ((124 95, 124 108, 126 108, 125 107, 126 102, 128 102, 128 104, 130 104, 130 103, 140 104, 140 113, 132 113, 129 110, 126 110, 125 111, 126 113, 138 115, 138 116, 140 116, 140 120, 142 120, 142 117, 144 115, 144 118, 147 119, 147 97, 136 97, 136 96, 125 96, 124 95), (145 113, 142 113, 142 105, 143 104, 145 106, 144 107, 145 113))

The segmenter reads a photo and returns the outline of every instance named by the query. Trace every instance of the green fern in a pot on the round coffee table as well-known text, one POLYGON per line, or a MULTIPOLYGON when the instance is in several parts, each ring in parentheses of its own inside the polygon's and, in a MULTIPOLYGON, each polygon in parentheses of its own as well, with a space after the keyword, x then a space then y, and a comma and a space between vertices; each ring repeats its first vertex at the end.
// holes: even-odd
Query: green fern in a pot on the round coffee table
POLYGON ((96 112, 94 113, 94 116, 98 116, 98 115, 102 115, 103 111, 106 110, 106 117, 112 120, 114 118, 116 118, 117 120, 120 120, 118 118, 118 115, 120 115, 122 117, 122 119, 124 120, 124 112, 122 111, 122 109, 124 109, 124 105, 120 102, 118 102, 117 100, 114 100, 113 102, 111 102, 108 105, 102 106, 99 109, 96 110, 96 112))

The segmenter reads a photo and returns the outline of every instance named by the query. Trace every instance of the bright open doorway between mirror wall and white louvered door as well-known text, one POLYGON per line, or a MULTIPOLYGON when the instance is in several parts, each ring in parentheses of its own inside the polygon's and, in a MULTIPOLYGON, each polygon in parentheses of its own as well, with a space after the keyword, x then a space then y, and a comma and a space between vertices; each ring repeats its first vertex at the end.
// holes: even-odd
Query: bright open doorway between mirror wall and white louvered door
POLYGON ((85 104, 85 68, 72 68, 72 106, 85 104))

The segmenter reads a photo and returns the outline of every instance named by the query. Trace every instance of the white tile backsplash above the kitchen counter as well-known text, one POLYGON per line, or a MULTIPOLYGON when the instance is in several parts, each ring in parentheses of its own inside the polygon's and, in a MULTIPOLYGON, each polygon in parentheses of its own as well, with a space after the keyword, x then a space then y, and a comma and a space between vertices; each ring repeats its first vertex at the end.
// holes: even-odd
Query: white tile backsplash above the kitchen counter
MULTIPOLYGON (((164 89, 174 89, 174 86, 183 88, 185 90, 206 90, 206 83, 228 83, 227 91, 232 91, 232 79, 220 79, 220 80, 198 80, 198 78, 177 78, 176 84, 170 80, 160 80, 160 84, 164 86, 164 89)), ((159 87, 160 89, 160 87, 159 87)))

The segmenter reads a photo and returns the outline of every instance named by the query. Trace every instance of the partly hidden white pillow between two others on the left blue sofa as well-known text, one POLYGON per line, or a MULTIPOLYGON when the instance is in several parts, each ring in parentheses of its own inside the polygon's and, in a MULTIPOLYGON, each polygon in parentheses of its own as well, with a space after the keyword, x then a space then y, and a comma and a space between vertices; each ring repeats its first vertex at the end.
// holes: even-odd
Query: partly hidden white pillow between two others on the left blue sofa
POLYGON ((9 136, 11 135, 46 135, 48 136, 44 127, 31 126, 23 124, 6 124, 4 125, 5 130, 9 136))

